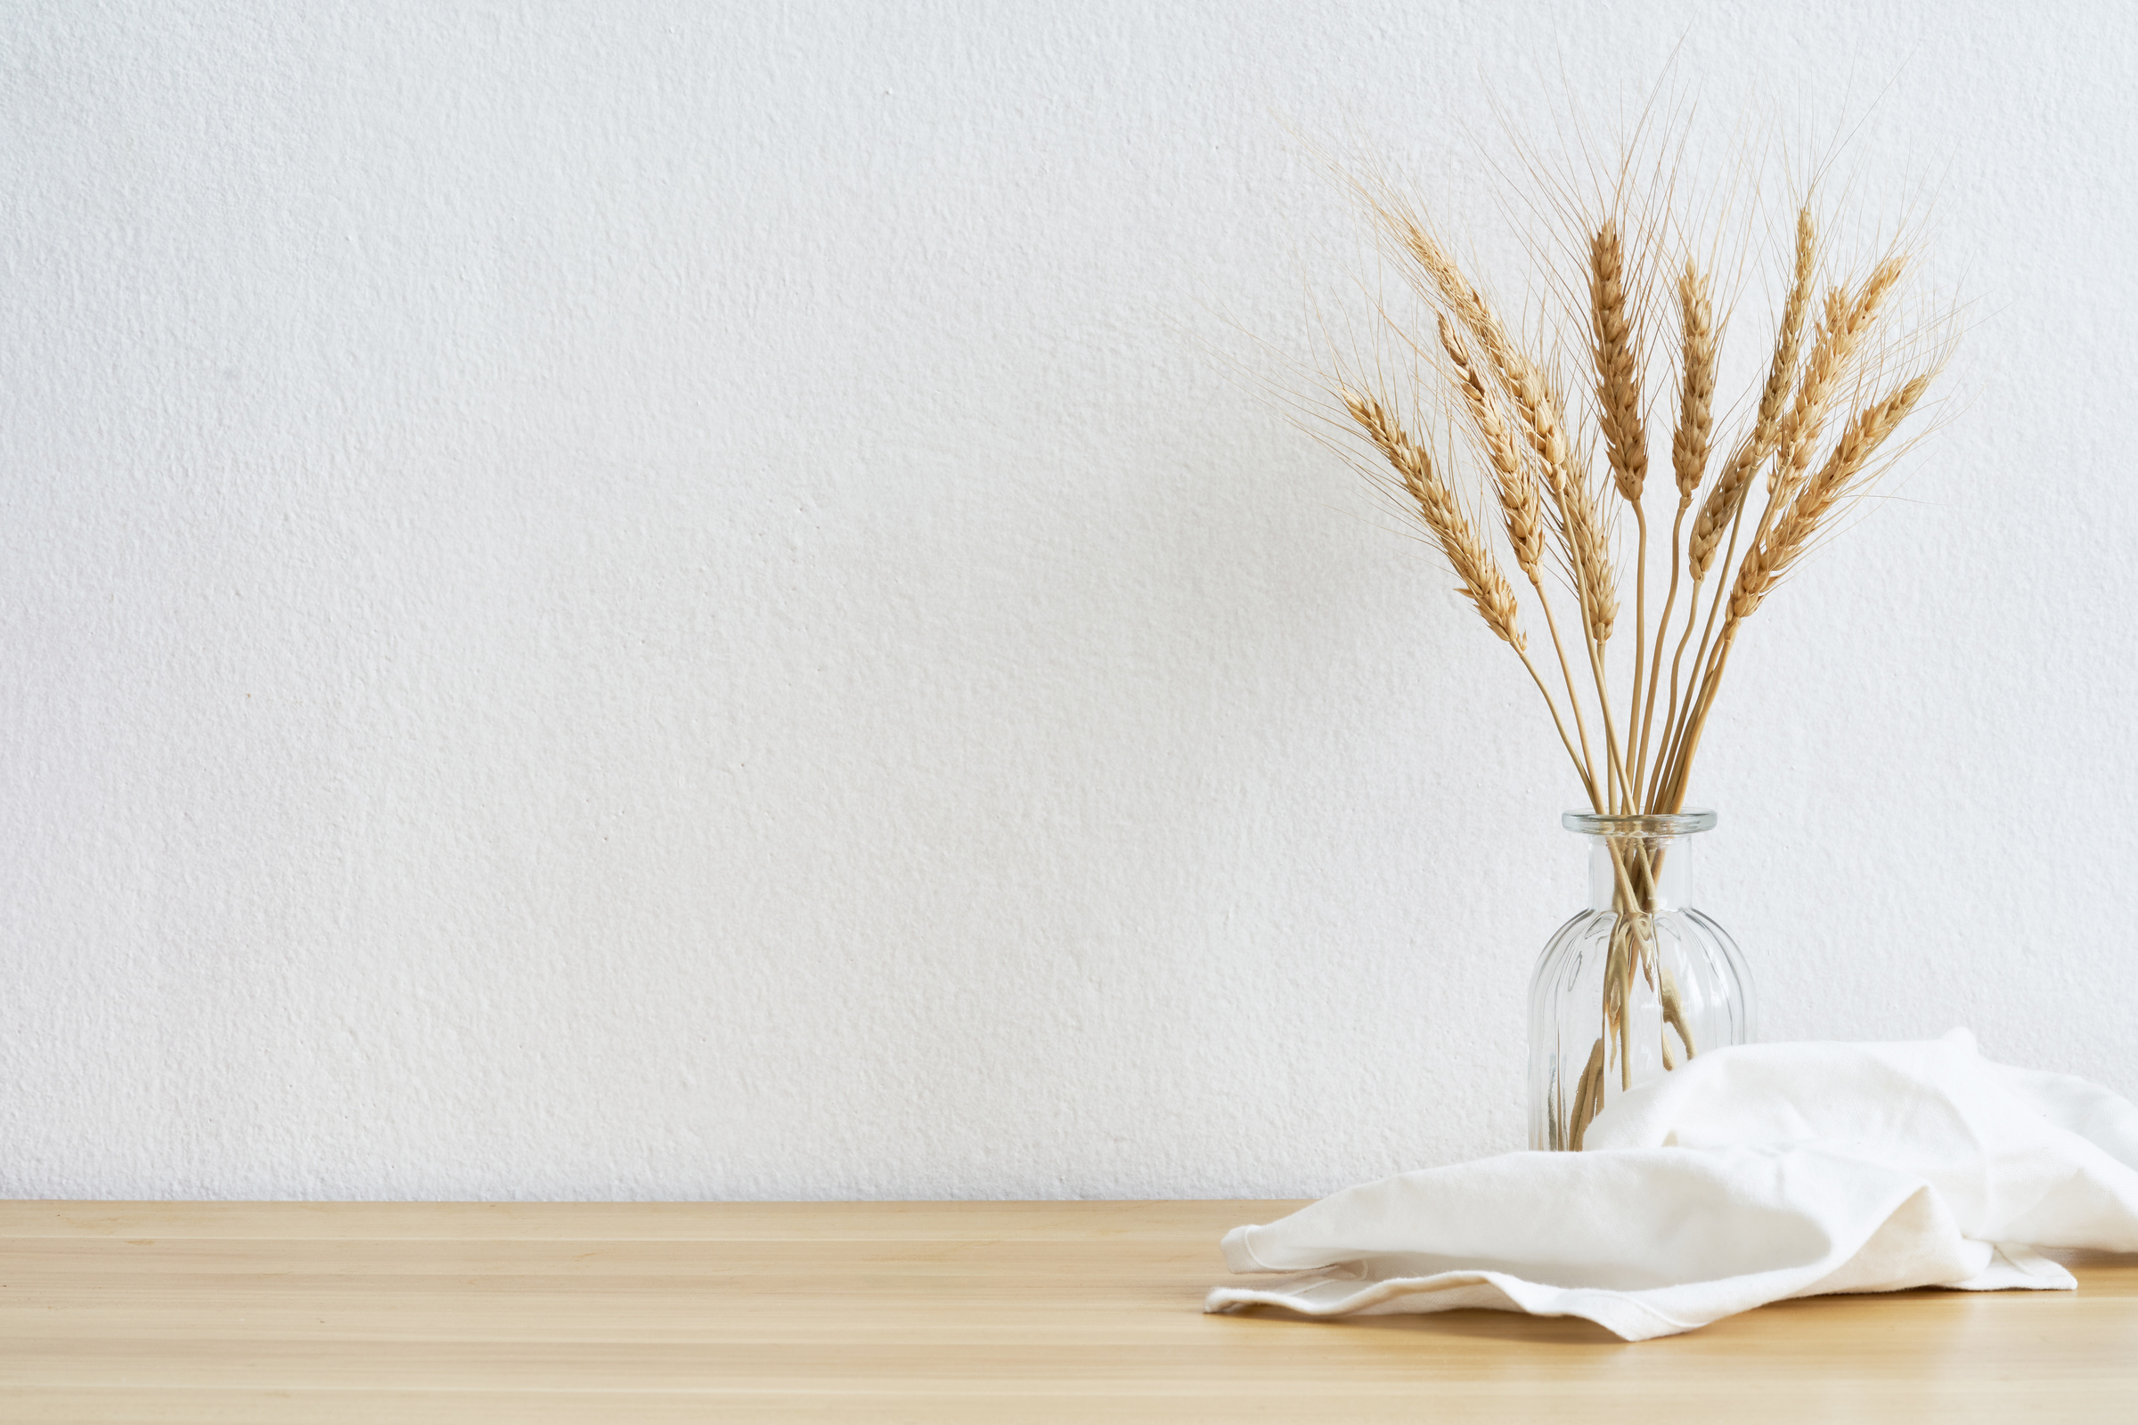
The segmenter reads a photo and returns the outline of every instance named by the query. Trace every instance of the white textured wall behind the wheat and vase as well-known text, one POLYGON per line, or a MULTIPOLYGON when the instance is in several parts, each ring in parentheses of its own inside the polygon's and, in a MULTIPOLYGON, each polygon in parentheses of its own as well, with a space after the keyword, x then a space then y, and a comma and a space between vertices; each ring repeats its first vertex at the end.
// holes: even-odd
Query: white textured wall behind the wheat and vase
MULTIPOLYGON (((1967 400, 1732 667, 1766 1032, 2138 1090, 2119 2, 4 17, 0 1192, 1293 1194, 1520 1139, 1518 667, 1231 385, 1507 98, 1839 113, 1967 400), (1221 316, 1223 314, 1223 316, 1221 316)), ((1490 250, 1490 239, 1479 237, 1490 250)))

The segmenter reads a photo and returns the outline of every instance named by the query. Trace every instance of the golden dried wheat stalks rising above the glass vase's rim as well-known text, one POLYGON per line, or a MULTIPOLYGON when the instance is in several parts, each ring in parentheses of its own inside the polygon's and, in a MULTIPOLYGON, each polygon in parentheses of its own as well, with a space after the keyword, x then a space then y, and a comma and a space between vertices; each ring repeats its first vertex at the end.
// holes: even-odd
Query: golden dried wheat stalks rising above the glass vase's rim
POLYGON ((1413 203, 1385 182, 1355 182, 1355 190, 1437 331, 1424 340, 1383 312, 1415 357, 1409 380, 1398 387, 1385 376, 1334 370, 1332 393, 1396 472, 1392 489, 1422 519, 1462 596, 1544 694, 1591 808, 1680 810, 1740 626, 1892 466, 1903 449, 1894 434, 1937 374, 1941 346, 1924 340, 1937 323, 1894 320, 1892 297, 1909 273, 1907 252, 1888 250, 1860 278, 1830 273, 1813 207, 1798 207, 1766 380, 1745 429, 1719 447, 1715 385, 1723 331, 1713 273, 1698 254, 1672 252, 1666 239, 1691 224, 1648 216, 1640 239, 1629 244, 1610 203, 1584 222, 1582 239, 1571 246, 1584 256, 1584 271, 1567 291, 1584 297, 1586 329, 1567 346, 1586 370, 1567 380, 1576 363, 1516 340, 1413 203), (1663 303, 1674 308, 1668 323, 1657 320, 1663 303), (1668 340, 1657 340, 1666 331, 1668 340), (1644 370, 1651 365, 1663 365, 1666 380, 1644 370), (1569 389, 1582 393, 1580 402, 1567 400, 1569 389), (1668 588, 1651 622, 1648 583, 1661 577, 1653 564, 1663 553, 1651 549, 1648 528, 1657 391, 1668 391, 1676 410, 1663 496, 1668 588), (1839 414, 1845 419, 1837 421, 1839 414), (1465 432, 1494 517, 1471 508, 1462 483, 1443 470, 1447 457, 1437 459, 1413 438, 1413 429, 1435 423, 1465 432), (1591 442, 1589 429, 1599 440, 1591 442), (1599 455, 1591 455, 1595 447, 1599 455), (1719 449, 1728 449, 1728 459, 1715 459, 1719 449), (1755 487, 1764 491, 1760 500, 1751 498, 1755 487), (1627 515, 1631 541, 1618 532, 1627 515), (1505 551, 1544 615, 1556 679, 1531 658, 1518 585, 1501 568, 1492 530, 1505 534, 1505 551), (1614 696, 1608 652, 1618 630, 1621 581, 1633 585, 1633 658, 1614 696), (1554 598, 1571 598, 1580 613, 1565 630, 1554 598), (1574 654, 1569 641, 1578 643, 1574 654), (1593 726, 1601 731, 1601 748, 1593 726))

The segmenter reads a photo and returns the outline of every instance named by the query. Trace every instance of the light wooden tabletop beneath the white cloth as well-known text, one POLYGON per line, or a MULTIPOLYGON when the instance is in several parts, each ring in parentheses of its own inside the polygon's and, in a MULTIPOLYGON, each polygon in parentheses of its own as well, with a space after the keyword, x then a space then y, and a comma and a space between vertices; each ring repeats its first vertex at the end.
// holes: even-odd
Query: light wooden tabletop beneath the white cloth
POLYGON ((0 1203, 0 1421, 2138 1421, 2078 1293, 1204 1316, 1287 1203, 0 1203))

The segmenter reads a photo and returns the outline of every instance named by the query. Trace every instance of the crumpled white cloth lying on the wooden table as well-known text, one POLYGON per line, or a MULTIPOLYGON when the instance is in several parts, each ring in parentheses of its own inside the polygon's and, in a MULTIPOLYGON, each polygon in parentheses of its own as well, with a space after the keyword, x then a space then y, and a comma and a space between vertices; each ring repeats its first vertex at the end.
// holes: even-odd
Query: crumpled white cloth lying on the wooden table
POLYGON ((2138 1107, 1903 1045, 1704 1053, 1606 1109, 1580 1154, 1503 1154, 1349 1188, 1225 1235, 1204 1310, 1497 1307, 1629 1342, 1824 1293, 2074 1288, 2031 1248, 2138 1252, 2138 1107))

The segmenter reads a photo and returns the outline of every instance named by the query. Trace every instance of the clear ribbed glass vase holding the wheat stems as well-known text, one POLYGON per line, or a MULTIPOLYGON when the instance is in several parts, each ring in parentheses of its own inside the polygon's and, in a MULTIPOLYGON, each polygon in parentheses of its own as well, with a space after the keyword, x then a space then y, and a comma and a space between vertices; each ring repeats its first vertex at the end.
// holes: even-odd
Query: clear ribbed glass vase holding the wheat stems
POLYGON ((1529 1145, 1578 1152, 1618 1094, 1751 1043, 1753 989, 1736 942, 1691 904, 1691 840, 1715 812, 1561 825, 1589 842, 1589 908, 1529 983, 1529 1145))

